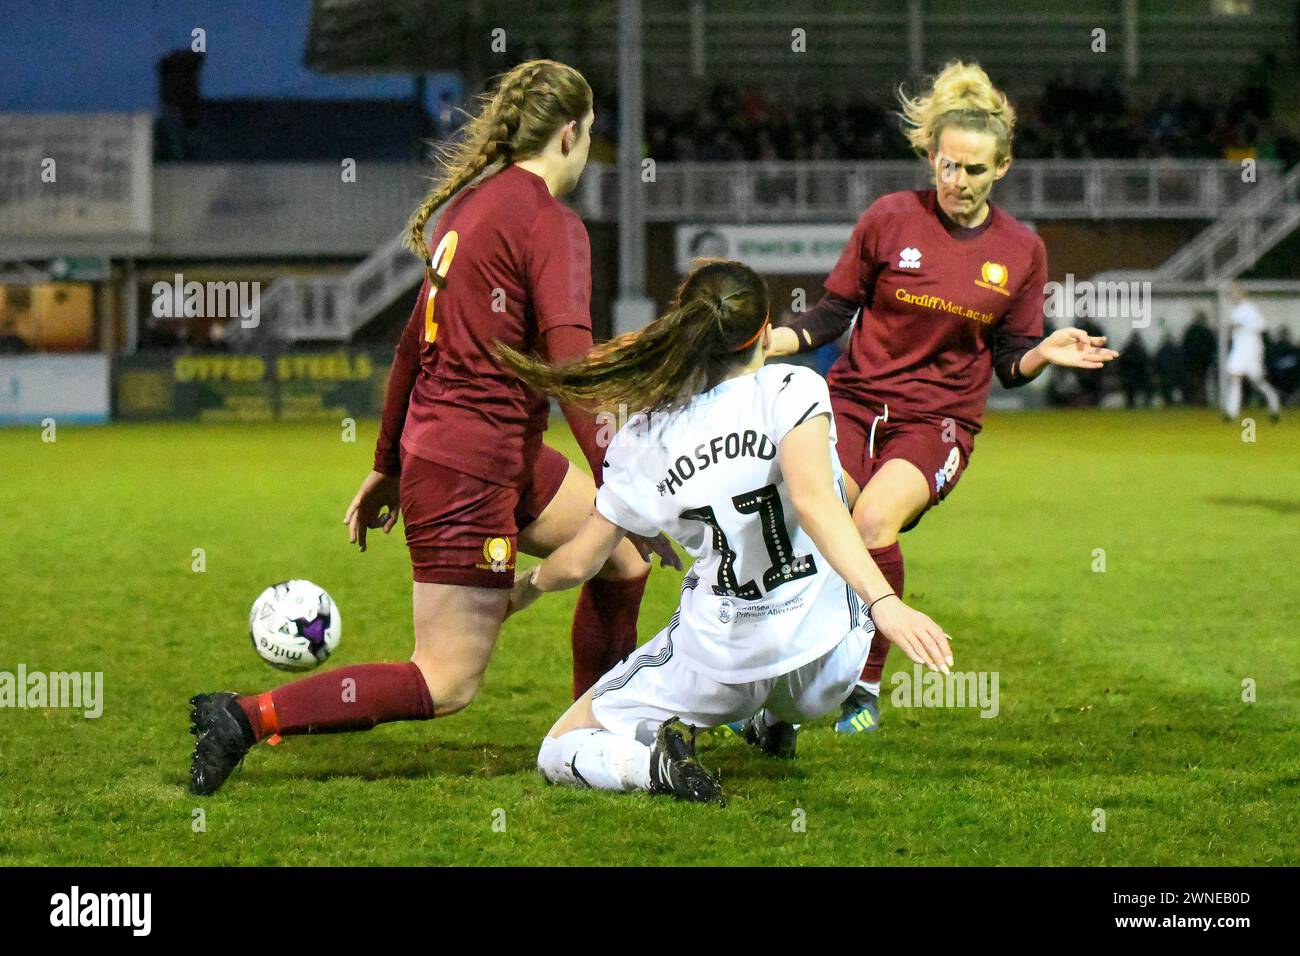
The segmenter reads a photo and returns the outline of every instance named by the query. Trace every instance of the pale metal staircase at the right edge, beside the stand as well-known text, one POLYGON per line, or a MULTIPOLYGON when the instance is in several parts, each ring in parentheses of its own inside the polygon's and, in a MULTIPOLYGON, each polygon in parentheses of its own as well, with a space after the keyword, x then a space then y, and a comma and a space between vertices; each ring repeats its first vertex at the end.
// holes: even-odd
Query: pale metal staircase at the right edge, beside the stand
POLYGON ((1097 280, 1140 278, 1157 286, 1228 282, 1300 226, 1300 164, 1205 228, 1157 269, 1104 272, 1097 280))

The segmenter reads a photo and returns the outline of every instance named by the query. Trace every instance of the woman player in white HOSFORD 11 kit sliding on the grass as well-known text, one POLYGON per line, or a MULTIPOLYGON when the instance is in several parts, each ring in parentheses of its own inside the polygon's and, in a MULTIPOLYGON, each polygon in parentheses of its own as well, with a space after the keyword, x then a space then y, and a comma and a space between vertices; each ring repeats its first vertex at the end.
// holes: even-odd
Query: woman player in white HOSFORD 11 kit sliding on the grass
POLYGON ((520 576, 510 613, 588 580, 628 532, 663 531, 696 559, 668 626, 542 741, 537 765, 555 783, 720 803, 696 728, 746 721, 751 743, 793 756, 793 724, 849 695, 876 627, 918 663, 953 663, 946 635, 889 591, 853 524, 826 380, 763 365, 767 317, 762 277, 711 260, 666 315, 578 363, 500 351, 562 401, 647 410, 610 444, 586 523, 520 576))

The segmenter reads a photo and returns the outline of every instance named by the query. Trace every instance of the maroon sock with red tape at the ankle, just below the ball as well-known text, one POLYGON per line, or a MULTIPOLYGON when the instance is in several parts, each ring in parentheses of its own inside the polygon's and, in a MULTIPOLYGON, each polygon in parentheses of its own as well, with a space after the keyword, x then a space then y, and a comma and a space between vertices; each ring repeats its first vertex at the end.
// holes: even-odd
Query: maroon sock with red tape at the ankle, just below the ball
POLYGON ((410 661, 335 667, 237 701, 257 740, 273 734, 369 730, 389 721, 433 717, 429 685, 410 661))

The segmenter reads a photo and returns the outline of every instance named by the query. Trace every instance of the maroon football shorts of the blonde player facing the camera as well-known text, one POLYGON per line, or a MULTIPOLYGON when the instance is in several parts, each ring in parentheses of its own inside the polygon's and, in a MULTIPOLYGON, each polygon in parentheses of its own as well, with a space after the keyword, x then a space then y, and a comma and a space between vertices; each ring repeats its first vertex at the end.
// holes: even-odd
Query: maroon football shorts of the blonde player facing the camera
POLYGON ((975 436, 956 421, 885 421, 884 410, 867 408, 838 395, 831 395, 831 408, 835 412, 840 467, 858 483, 858 488, 866 488, 871 476, 893 458, 910 462, 926 476, 930 503, 902 531, 915 528, 926 511, 948 497, 975 450, 975 436), (876 431, 874 441, 872 424, 876 431))

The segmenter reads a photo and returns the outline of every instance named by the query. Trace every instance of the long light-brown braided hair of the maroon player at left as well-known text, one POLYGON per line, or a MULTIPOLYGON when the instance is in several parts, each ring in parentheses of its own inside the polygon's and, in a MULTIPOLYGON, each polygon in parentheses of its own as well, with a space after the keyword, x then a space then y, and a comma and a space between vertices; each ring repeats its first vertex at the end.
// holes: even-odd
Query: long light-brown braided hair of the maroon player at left
POLYGON ((424 226, 443 203, 485 170, 541 152, 555 130, 590 111, 592 87, 566 64, 529 60, 500 75, 494 91, 478 96, 478 112, 460 137, 437 148, 441 172, 407 222, 407 248, 428 264, 424 226))

